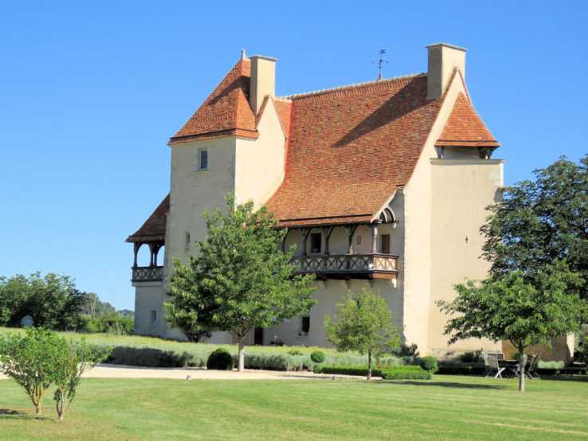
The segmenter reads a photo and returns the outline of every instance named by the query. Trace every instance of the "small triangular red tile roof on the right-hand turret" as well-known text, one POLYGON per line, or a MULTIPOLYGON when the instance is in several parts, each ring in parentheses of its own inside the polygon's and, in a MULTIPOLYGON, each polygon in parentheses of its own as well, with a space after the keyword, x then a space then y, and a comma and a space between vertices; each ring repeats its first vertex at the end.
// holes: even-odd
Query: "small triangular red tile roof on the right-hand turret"
POLYGON ((472 103, 463 93, 457 96, 455 105, 436 146, 498 147, 490 130, 476 113, 472 103))

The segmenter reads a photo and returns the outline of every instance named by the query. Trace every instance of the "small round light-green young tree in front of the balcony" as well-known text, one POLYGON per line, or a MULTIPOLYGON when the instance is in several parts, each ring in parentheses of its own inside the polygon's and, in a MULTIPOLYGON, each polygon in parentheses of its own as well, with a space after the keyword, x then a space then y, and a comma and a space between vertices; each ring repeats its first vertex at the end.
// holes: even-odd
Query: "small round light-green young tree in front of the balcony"
POLYGON ((328 340, 339 351, 368 354, 368 380, 372 378, 372 355, 400 342, 400 331, 392 323, 385 299, 367 289, 339 303, 333 319, 325 316, 325 328, 328 340))

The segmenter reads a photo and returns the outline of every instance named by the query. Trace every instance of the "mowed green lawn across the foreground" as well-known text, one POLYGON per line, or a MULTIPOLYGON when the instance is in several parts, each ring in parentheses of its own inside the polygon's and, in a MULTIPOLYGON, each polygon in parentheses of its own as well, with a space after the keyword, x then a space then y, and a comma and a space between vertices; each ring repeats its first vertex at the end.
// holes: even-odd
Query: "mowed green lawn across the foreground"
POLYGON ((2 440, 588 439, 588 382, 85 379, 65 422, 0 381, 2 440))

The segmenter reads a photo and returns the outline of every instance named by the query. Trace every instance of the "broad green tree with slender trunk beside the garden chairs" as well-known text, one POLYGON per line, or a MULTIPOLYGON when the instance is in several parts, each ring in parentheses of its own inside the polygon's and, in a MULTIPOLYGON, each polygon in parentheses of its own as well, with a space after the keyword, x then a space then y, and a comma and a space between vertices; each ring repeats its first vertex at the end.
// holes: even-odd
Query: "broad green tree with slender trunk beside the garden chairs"
POLYGON ((464 338, 509 340, 519 351, 519 390, 524 390, 524 349, 574 332, 588 317, 586 301, 578 294, 582 279, 565 262, 536 268, 533 283, 522 271, 482 282, 455 286, 452 302, 439 301, 451 317, 445 334, 450 343, 464 338))

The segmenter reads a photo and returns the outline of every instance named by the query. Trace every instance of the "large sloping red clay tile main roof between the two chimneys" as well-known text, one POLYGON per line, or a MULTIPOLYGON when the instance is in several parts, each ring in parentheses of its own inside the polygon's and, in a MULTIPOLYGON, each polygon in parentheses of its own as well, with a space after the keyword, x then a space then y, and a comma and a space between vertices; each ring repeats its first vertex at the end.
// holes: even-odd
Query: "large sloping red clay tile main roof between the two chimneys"
POLYGON ((375 216, 408 182, 435 122, 442 99, 426 96, 426 75, 413 75, 290 97, 285 178, 268 201, 280 224, 375 216))

